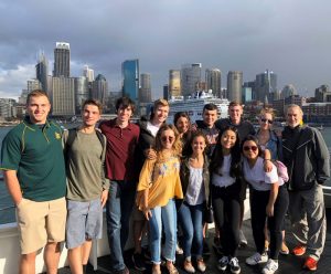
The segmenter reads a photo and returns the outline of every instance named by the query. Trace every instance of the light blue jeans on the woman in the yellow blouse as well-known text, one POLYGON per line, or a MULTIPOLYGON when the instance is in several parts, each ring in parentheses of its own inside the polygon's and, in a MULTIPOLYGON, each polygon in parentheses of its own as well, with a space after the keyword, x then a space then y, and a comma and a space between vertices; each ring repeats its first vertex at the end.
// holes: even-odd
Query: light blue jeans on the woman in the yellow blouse
POLYGON ((174 262, 177 245, 177 212, 174 200, 169 200, 164 207, 151 209, 151 213, 152 217, 149 220, 151 262, 153 264, 161 263, 162 224, 166 234, 163 255, 167 261, 174 262))

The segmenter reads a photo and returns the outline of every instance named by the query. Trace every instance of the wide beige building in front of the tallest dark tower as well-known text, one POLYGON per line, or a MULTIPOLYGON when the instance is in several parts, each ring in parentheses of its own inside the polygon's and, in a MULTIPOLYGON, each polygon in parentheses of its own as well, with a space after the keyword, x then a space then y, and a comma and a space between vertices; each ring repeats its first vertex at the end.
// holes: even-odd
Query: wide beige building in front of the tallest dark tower
POLYGON ((53 77, 52 114, 56 116, 75 115, 75 78, 53 77))

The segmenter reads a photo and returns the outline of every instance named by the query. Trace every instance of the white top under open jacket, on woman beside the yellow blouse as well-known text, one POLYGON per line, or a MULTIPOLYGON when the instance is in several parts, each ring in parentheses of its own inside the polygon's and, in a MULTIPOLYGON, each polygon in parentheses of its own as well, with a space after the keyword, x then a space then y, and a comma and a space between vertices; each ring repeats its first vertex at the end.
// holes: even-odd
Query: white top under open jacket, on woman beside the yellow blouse
POLYGON ((189 186, 185 194, 185 201, 190 205, 201 204, 205 200, 202 168, 190 167, 189 186))

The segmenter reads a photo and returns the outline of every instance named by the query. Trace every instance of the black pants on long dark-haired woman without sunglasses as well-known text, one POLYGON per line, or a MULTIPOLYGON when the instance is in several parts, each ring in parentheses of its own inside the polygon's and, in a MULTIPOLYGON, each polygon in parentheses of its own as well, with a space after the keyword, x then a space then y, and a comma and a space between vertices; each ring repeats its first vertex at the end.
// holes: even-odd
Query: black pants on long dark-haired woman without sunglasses
POLYGON ((239 244, 241 183, 227 188, 212 186, 215 223, 221 231, 224 255, 236 256, 239 244))

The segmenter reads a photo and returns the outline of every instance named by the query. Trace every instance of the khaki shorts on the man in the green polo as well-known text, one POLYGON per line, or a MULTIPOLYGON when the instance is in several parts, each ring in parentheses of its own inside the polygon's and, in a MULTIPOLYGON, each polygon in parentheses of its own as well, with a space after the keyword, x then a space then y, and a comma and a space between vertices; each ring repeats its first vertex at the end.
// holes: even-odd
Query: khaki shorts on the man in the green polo
POLYGON ((21 254, 33 253, 47 242, 63 242, 65 239, 65 198, 35 202, 28 199, 17 205, 21 254))

